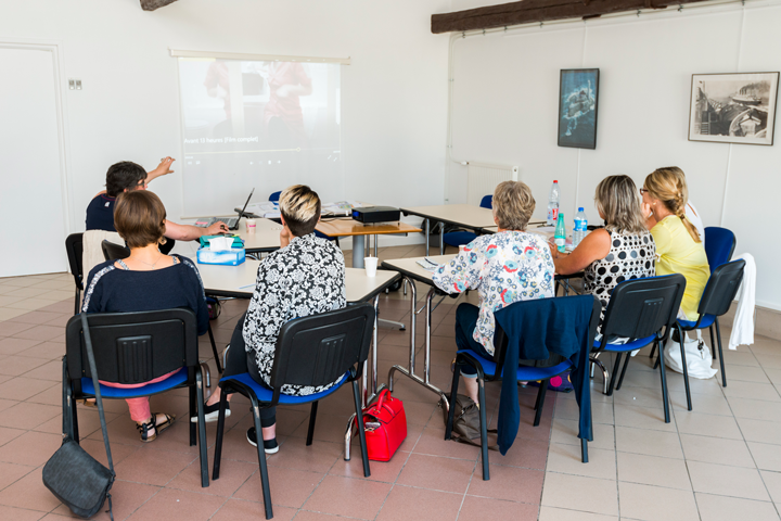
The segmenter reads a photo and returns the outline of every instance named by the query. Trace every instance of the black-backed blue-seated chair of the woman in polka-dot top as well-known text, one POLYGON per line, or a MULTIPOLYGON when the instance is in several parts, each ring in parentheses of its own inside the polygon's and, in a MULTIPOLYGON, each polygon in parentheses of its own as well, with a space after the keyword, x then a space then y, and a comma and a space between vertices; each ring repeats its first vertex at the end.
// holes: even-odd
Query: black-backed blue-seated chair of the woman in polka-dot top
MULTIPOLYGON (((602 339, 594 342, 594 352, 616 353, 613 374, 607 387, 607 396, 613 394, 613 387, 620 389, 629 365, 629 353, 640 350, 649 344, 664 346, 670 331, 676 323, 678 308, 680 308, 686 278, 680 274, 664 277, 650 277, 646 279, 627 280, 613 290, 610 304, 602 321, 602 339), (624 336, 629 341, 625 344, 612 344, 611 340, 624 336), (620 367, 622 356, 627 358, 615 385, 616 374, 620 367)), ((681 350, 682 351, 682 350, 681 350)), ((681 353, 683 367, 686 355, 681 353)), ((665 423, 669 423, 669 403, 667 398, 667 378, 665 376, 664 356, 660 356, 660 378, 662 380, 662 401, 664 402, 665 423)), ((687 398, 691 410, 691 395, 689 380, 686 378, 687 398)))

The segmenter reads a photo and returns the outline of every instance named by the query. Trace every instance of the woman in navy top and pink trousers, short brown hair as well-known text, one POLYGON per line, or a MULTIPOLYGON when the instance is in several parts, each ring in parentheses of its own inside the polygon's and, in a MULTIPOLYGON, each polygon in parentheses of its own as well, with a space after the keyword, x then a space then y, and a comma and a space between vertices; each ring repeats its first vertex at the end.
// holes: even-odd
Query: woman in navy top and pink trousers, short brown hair
MULTIPOLYGON (((197 332, 208 331, 208 309, 203 282, 195 265, 179 255, 165 255, 158 245, 165 242, 165 207, 152 192, 135 190, 120 193, 114 208, 114 224, 130 247, 124 260, 107 260, 95 266, 87 279, 85 313, 149 312, 187 307, 197 317, 197 332)), ((174 371, 177 372, 177 371, 174 371)), ((141 384, 165 380, 174 372, 141 384)), ((149 396, 127 399, 130 418, 141 431, 141 441, 151 442, 171 425, 175 417, 150 412, 149 396)))

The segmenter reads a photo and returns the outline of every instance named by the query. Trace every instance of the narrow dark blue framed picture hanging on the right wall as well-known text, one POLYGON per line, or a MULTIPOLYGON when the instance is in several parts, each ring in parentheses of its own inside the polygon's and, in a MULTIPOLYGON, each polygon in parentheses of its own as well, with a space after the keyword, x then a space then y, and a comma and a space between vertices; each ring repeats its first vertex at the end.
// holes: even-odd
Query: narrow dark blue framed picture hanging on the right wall
POLYGON ((559 88, 559 147, 597 148, 599 68, 567 68, 559 88))

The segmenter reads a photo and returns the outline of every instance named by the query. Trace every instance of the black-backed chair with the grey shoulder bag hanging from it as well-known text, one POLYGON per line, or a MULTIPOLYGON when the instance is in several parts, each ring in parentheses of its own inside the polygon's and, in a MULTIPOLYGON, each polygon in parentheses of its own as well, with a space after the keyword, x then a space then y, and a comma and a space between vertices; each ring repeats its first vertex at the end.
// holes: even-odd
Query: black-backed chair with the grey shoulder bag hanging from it
MULTIPOLYGON (((103 399, 126 399, 158 394, 171 389, 190 389, 190 446, 197 443, 201 457, 201 486, 208 486, 204 392, 197 359, 197 320, 190 309, 89 315, 89 330, 101 381, 135 384, 177 371, 167 379, 142 387, 101 385, 103 399), (177 370, 178 369, 178 370, 177 370), (196 435, 197 433, 197 435, 196 435)), ((78 415, 74 399, 94 397, 92 373, 87 363, 80 316, 65 327, 63 358, 63 415, 73 418, 73 439, 78 443, 78 415)))

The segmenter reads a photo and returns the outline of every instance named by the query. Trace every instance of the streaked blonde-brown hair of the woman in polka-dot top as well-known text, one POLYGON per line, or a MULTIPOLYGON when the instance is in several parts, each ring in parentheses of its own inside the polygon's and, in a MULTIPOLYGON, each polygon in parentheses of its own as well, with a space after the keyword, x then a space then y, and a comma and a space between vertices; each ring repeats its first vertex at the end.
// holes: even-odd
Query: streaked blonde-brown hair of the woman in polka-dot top
POLYGON ((641 199, 629 176, 605 177, 594 191, 597 209, 604 215, 605 228, 618 233, 644 233, 641 199))

